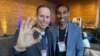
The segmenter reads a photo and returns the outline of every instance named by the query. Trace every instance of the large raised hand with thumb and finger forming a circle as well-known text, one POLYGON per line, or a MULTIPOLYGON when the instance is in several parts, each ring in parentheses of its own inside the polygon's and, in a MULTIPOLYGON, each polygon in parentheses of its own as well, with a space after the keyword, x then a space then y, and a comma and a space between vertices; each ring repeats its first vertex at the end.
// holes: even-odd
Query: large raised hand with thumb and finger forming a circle
POLYGON ((40 39, 34 39, 33 33, 34 31, 41 32, 38 28, 33 27, 34 23, 30 17, 25 21, 22 22, 20 27, 20 32, 16 44, 15 49, 23 49, 25 50, 27 47, 30 47, 38 42, 40 39))

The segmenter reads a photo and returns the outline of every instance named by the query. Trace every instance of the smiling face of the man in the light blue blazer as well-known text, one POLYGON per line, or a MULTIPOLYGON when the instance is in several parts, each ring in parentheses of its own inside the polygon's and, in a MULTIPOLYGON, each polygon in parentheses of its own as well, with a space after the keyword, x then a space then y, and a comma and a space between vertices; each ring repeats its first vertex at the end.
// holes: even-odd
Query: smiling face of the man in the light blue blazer
POLYGON ((65 24, 69 17, 68 9, 65 6, 59 7, 56 16, 59 24, 65 24))

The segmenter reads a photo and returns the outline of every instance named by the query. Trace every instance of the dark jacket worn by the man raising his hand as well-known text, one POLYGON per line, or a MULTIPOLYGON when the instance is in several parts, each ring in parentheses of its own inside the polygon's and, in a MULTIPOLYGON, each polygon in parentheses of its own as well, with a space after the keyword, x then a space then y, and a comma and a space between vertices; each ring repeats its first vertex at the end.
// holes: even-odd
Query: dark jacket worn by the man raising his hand
MULTIPOLYGON (((52 34, 49 31, 49 29, 46 29, 45 31, 47 35, 47 41, 48 41, 48 51, 47 56, 53 56, 53 41, 52 41, 52 34)), ((14 36, 14 43, 16 44, 17 38, 19 35, 19 30, 16 31, 16 34, 14 36)), ((24 52, 17 52, 14 47, 10 50, 10 56, 41 56, 40 49, 38 46, 38 43, 35 45, 32 45, 31 47, 27 48, 24 52)))

